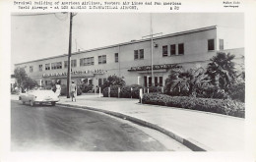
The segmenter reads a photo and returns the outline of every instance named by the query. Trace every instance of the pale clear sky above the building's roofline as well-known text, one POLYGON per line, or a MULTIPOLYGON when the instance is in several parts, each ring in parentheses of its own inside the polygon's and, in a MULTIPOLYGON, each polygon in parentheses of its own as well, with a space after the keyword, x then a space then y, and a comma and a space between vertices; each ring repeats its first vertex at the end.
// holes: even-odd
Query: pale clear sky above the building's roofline
MULTIPOLYGON (((56 13, 11 16, 11 72, 14 64, 68 53, 69 17, 56 13)), ((150 34, 149 13, 77 13, 73 18, 72 52, 141 39, 150 34)), ((240 13, 154 13, 153 33, 199 27, 244 27, 240 13)))

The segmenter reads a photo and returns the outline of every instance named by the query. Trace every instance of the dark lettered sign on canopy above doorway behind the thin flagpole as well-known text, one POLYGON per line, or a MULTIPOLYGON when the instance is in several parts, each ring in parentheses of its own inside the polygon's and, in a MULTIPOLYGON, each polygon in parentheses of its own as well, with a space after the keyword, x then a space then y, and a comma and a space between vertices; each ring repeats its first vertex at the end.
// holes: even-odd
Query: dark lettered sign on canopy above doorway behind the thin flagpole
MULTIPOLYGON (((153 65, 153 70, 160 70, 160 69, 180 69, 182 68, 179 65, 176 64, 163 64, 163 65, 153 65)), ((142 67, 131 67, 129 69, 129 72, 134 72, 134 71, 151 71, 151 66, 142 66, 142 67)))

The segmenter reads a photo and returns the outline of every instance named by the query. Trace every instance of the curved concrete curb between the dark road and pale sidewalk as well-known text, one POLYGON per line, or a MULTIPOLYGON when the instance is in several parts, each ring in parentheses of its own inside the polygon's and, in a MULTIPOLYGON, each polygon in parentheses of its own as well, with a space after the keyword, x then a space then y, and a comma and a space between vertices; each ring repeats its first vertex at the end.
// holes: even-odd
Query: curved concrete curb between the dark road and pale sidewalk
POLYGON ((139 125, 146 126, 148 128, 157 130, 157 131, 159 131, 160 133, 162 133, 164 135, 170 136, 171 138, 173 138, 176 141, 180 142, 181 144, 187 146, 188 148, 190 148, 193 151, 211 151, 211 150, 213 150, 212 148, 210 148, 210 147, 208 147, 208 146, 206 146, 202 143, 199 143, 198 141, 196 141, 192 138, 187 138, 187 137, 184 137, 182 135, 178 135, 174 132, 170 132, 170 131, 167 131, 167 130, 163 129, 163 128, 161 128, 160 126, 158 126, 156 124, 152 124, 152 123, 149 123, 147 121, 144 121, 144 120, 141 120, 141 119, 138 119, 138 118, 134 118, 134 117, 131 117, 131 116, 128 116, 128 115, 124 115, 124 114, 121 114, 121 113, 108 111, 108 110, 102 110, 102 109, 98 109, 98 108, 94 108, 94 107, 82 106, 82 105, 72 105, 72 104, 66 104, 66 103, 56 103, 56 105, 70 106, 70 107, 75 107, 75 108, 93 110, 93 111, 105 113, 105 114, 108 114, 108 115, 111 115, 111 116, 114 116, 114 117, 117 117, 117 118, 128 120, 128 121, 131 121, 131 122, 139 124, 139 125))

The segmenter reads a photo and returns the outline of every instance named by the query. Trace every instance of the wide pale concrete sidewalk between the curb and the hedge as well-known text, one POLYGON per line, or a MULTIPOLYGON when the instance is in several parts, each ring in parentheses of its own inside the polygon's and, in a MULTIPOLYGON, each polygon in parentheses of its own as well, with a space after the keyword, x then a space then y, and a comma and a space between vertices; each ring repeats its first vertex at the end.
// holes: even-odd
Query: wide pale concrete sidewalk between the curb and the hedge
POLYGON ((171 136, 192 150, 244 150, 244 119, 140 104, 138 101, 92 94, 80 95, 76 102, 61 96, 57 104, 95 110, 145 125, 171 136))

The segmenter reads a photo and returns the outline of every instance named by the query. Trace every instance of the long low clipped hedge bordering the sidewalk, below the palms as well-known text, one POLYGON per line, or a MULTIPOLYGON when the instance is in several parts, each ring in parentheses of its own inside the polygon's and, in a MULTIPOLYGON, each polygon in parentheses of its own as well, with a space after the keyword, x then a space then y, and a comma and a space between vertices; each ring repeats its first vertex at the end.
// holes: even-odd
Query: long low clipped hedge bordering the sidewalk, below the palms
POLYGON ((159 93, 146 93, 143 95, 142 103, 219 113, 239 118, 245 117, 244 103, 227 99, 169 96, 159 93))

